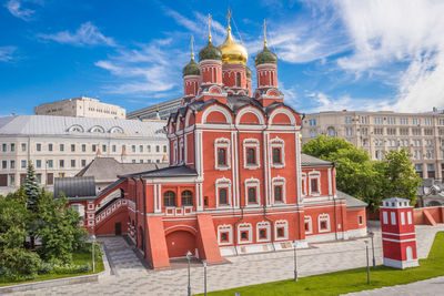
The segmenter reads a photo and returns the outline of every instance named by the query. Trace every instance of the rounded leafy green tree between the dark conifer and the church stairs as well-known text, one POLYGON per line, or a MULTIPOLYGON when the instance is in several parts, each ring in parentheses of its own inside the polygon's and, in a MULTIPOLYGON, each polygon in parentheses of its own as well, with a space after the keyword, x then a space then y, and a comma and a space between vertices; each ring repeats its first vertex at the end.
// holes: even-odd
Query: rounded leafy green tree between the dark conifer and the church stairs
POLYGON ((79 214, 67 204, 63 195, 59 198, 48 193, 40 196, 38 234, 42 246, 39 253, 52 263, 70 263, 72 253, 84 245, 87 232, 79 227, 79 214))

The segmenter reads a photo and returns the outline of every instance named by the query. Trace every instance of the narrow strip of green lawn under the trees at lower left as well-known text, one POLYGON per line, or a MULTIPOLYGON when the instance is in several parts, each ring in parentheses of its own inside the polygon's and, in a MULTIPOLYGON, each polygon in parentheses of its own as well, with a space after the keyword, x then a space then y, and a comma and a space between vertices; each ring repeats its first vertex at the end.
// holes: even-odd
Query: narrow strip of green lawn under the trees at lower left
MULTIPOLYGON (((78 252, 74 253, 72 258, 73 262, 72 264, 75 265, 84 265, 87 263, 91 264, 91 244, 89 244, 89 251, 88 252, 78 252)), ((24 284, 24 283, 32 283, 32 282, 40 282, 40 280, 48 280, 48 279, 57 279, 57 278, 63 278, 63 277, 70 277, 70 276, 80 276, 80 275, 90 275, 90 274, 97 274, 100 272, 104 271, 103 266, 103 261, 102 256, 95 256, 95 272, 85 272, 85 273, 71 273, 71 274, 54 274, 54 273, 49 273, 49 274, 43 274, 39 275, 33 279, 30 280, 22 280, 22 282, 10 282, 8 278, 1 277, 0 276, 0 286, 9 286, 9 285, 17 285, 17 284, 24 284)))

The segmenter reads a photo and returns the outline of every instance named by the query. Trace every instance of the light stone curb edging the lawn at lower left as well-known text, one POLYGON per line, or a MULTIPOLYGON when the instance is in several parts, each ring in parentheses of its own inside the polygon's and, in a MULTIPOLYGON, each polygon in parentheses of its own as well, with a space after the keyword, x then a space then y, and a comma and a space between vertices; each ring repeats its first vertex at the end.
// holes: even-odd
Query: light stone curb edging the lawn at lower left
MULTIPOLYGON (((103 246, 101 246, 103 252, 103 246)), ((41 280, 34 283, 18 284, 11 286, 0 287, 0 295, 16 292, 33 290, 39 288, 59 287, 67 285, 84 284, 99 282, 103 277, 110 276, 110 265, 108 263, 107 253, 103 252, 102 256, 104 271, 93 275, 71 276, 58 279, 41 280)))

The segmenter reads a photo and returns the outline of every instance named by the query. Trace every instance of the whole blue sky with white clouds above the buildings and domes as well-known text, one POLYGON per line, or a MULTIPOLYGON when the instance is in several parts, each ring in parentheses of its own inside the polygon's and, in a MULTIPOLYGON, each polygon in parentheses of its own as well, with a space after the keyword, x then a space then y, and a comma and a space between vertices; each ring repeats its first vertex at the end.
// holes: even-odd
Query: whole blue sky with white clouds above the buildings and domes
POLYGON ((300 112, 444 108, 444 1, 0 0, 0 115, 87 95, 133 111, 182 95, 190 37, 269 44, 300 112))

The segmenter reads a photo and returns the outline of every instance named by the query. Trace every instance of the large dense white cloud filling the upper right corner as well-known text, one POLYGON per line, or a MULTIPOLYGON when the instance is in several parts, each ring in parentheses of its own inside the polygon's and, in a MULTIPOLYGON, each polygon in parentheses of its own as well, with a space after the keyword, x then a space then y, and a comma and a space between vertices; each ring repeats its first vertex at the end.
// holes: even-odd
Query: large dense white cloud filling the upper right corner
POLYGON ((337 0, 336 7, 353 43, 353 53, 339 60, 342 69, 395 83, 395 111, 444 108, 443 1, 337 0))

